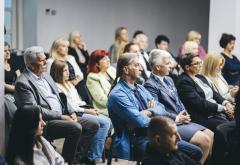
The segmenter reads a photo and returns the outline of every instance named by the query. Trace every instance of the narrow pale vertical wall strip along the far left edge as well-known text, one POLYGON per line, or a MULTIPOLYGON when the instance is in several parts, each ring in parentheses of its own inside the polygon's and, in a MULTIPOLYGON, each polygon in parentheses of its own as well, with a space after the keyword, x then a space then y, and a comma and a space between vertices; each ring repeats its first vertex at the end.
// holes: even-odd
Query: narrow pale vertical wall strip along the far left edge
POLYGON ((4 154, 5 150, 5 113, 3 106, 3 97, 4 97, 4 67, 3 67, 3 45, 4 45, 4 0, 0 0, 0 154, 4 154))

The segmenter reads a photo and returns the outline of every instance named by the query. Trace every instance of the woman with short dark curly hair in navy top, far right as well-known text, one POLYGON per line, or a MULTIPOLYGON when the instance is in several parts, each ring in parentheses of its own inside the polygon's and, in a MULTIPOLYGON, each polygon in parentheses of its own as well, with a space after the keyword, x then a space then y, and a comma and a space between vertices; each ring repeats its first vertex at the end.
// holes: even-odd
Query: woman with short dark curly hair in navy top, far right
POLYGON ((224 49, 221 54, 225 58, 222 74, 230 85, 238 85, 240 82, 240 61, 232 54, 235 40, 235 36, 224 33, 219 41, 220 46, 224 49))

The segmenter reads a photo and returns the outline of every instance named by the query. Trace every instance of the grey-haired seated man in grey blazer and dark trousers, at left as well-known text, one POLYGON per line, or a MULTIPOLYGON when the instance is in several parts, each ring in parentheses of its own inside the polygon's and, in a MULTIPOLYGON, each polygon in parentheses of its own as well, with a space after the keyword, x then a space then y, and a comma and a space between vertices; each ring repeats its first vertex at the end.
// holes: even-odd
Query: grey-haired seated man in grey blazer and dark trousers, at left
POLYGON ((17 107, 26 104, 41 107, 43 119, 47 121, 47 139, 65 138, 62 156, 72 164, 78 144, 81 144, 81 153, 87 154, 99 123, 77 117, 70 107, 63 105, 56 84, 50 75, 44 73, 47 63, 43 48, 34 46, 26 49, 24 62, 26 70, 17 79, 15 86, 17 107))

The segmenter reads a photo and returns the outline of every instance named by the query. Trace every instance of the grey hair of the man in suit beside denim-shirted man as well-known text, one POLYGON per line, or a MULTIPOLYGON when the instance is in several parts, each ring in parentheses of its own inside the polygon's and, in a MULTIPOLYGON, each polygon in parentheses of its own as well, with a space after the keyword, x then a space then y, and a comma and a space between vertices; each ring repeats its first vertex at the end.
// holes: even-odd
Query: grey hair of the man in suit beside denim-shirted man
POLYGON ((170 53, 166 50, 153 49, 149 54, 149 64, 151 69, 153 69, 155 65, 162 64, 164 58, 171 59, 170 53))

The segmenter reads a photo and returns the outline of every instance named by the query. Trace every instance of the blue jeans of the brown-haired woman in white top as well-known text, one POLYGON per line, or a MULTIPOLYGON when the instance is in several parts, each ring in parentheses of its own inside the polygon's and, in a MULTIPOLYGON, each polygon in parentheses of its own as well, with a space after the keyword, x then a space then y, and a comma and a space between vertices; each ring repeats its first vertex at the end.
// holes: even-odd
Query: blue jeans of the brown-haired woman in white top
POLYGON ((88 158, 90 160, 100 160, 102 158, 102 152, 104 149, 106 137, 108 135, 110 128, 112 127, 111 120, 110 118, 104 115, 95 116, 90 114, 83 114, 82 117, 95 119, 100 124, 100 128, 98 129, 98 132, 94 136, 92 144, 90 145, 90 148, 88 150, 88 158))

